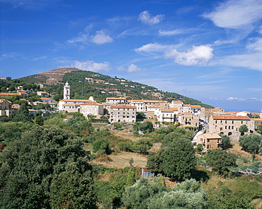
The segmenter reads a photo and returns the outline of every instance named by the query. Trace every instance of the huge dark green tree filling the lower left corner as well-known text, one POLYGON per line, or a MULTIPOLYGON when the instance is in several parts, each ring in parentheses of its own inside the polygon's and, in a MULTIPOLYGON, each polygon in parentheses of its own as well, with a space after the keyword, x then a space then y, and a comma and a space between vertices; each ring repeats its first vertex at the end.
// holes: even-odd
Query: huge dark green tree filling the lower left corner
POLYGON ((59 208, 65 197, 74 208, 96 208, 90 156, 83 146, 54 126, 36 125, 23 133, 1 154, 0 208, 59 208))

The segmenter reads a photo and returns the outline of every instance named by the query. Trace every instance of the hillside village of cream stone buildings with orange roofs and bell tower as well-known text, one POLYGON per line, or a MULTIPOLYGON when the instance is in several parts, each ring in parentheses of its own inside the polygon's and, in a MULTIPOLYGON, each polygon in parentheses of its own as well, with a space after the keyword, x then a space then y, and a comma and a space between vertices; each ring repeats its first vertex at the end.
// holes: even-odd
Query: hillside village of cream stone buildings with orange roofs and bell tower
MULTIPOLYGON (((93 80, 92 80, 93 81, 93 80)), ((22 91, 23 86, 19 86, 17 93, 0 93, 0 96, 23 96, 21 100, 26 100, 30 92, 22 91)), ((145 120, 152 121, 154 128, 176 124, 181 128, 195 130, 196 134, 192 142, 202 144, 203 149, 222 148, 222 135, 227 135, 232 142, 238 141, 241 136, 239 128, 246 125, 248 131, 246 134, 257 133, 258 125, 262 124, 262 111, 260 113, 242 112, 225 112, 223 108, 204 108, 199 105, 184 104, 183 101, 161 100, 127 100, 124 97, 108 97, 106 103, 98 103, 93 96, 87 99, 70 98, 70 85, 64 84, 64 98, 54 103, 50 94, 45 91, 38 91, 41 101, 33 102, 47 104, 51 110, 43 110, 42 115, 48 113, 82 113, 86 118, 108 118, 103 123, 127 123, 132 124, 137 121, 137 114, 144 115, 145 120), (255 117, 254 117, 255 115, 255 117)), ((19 105, 12 104, 6 99, 0 99, 0 118, 4 116, 13 117, 18 113, 19 105)), ((38 109, 29 110, 29 115, 35 117, 38 109)), ((99 120, 98 120, 99 121, 99 120)), ((139 132, 143 134, 143 132, 139 132)))

